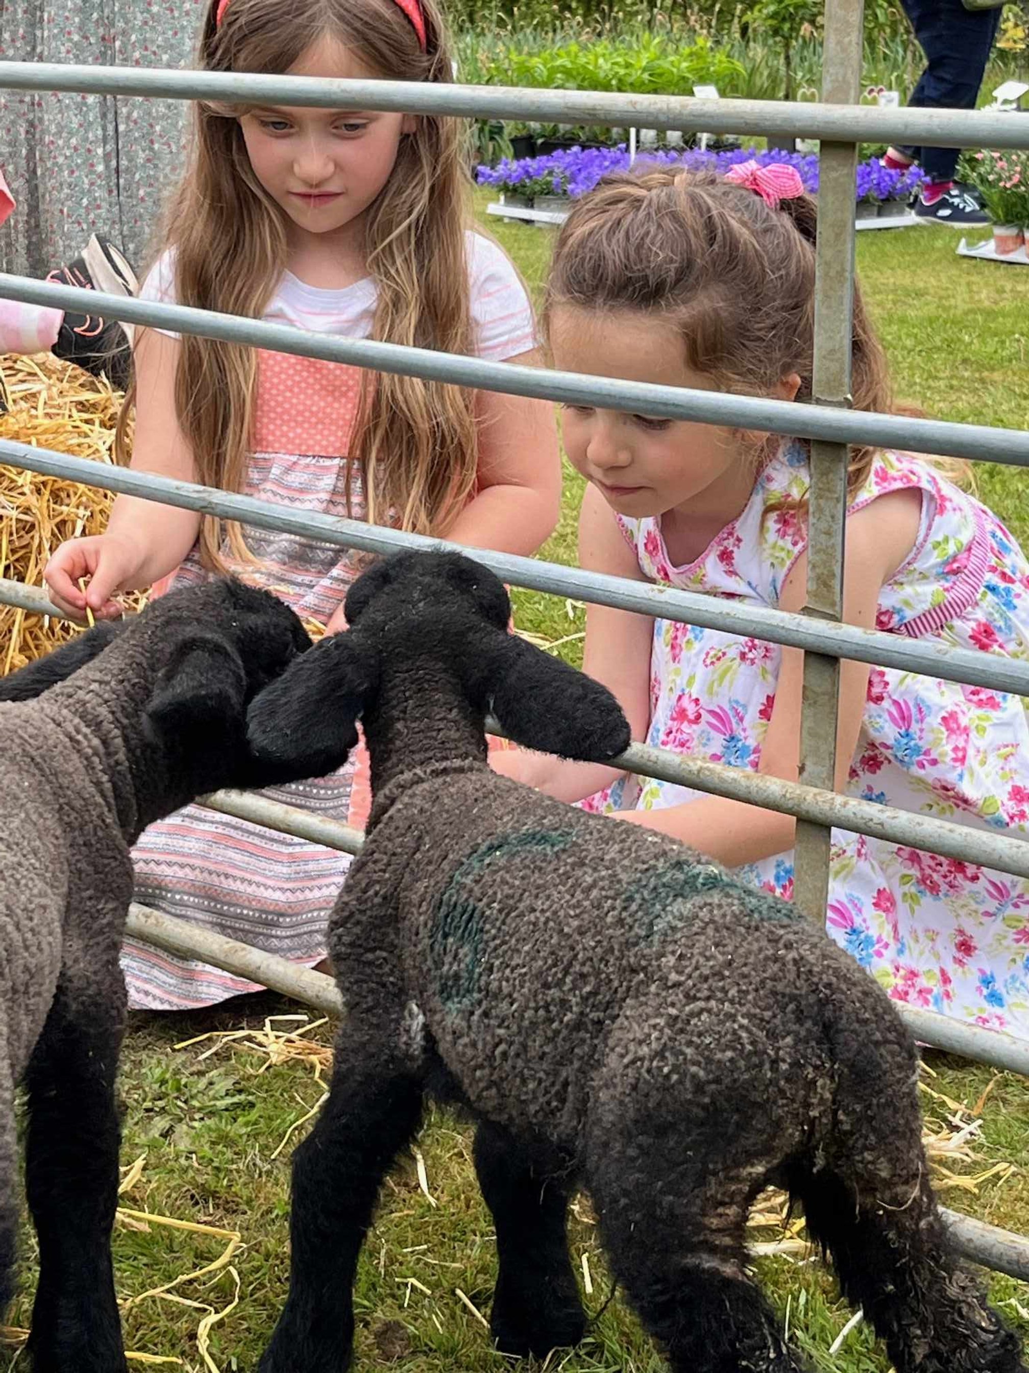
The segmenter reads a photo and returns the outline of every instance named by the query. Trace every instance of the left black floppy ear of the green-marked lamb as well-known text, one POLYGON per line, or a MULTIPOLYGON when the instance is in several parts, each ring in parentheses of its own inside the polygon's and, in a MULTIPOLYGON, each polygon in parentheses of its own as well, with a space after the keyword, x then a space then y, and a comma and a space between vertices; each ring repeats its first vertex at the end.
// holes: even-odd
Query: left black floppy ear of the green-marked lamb
POLYGON ((377 677, 377 655, 359 629, 316 644, 251 703, 251 754, 296 777, 324 777, 342 768, 357 744, 357 721, 377 677))

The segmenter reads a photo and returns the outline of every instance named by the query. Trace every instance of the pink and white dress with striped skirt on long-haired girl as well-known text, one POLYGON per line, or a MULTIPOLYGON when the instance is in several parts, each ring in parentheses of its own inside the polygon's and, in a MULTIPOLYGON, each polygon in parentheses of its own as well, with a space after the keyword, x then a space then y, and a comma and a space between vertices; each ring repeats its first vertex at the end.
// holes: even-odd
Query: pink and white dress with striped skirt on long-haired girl
MULTIPOLYGON (((469 232, 468 269, 476 354, 505 361, 535 347, 532 308, 504 251, 469 232)), ((172 253, 158 259, 140 298, 174 302, 172 253)), ((263 317, 313 334, 366 338, 375 301, 370 280, 322 290, 287 272, 263 317)), ((357 474, 351 474, 350 511, 346 490, 359 386, 358 368, 259 351, 246 493, 298 511, 364 518, 357 474)), ((303 618, 328 621, 354 579, 351 557, 291 534, 251 529, 246 537, 258 560, 240 568, 247 581, 274 590, 303 618)), ((206 575, 191 553, 161 590, 206 575)), ((366 788, 359 778, 355 785, 355 770, 351 762, 333 777, 269 795, 361 822, 366 788)), ((348 865, 344 854, 195 806, 152 825, 133 857, 137 901, 306 964, 325 954, 328 913, 348 865)), ((123 967, 133 1006, 184 1009, 254 990, 228 973, 137 943, 126 943, 123 967)))

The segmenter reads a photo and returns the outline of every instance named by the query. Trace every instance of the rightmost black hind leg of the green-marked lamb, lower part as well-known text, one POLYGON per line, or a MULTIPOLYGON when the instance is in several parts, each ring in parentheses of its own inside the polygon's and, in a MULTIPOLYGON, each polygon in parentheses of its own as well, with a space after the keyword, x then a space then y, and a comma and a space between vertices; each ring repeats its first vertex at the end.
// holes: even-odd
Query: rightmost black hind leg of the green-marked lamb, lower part
POLYGON ((844 1295, 886 1341, 897 1373, 1025 1373, 1021 1341, 949 1252, 921 1144, 912 1170, 859 1189, 829 1170, 793 1181, 844 1295))

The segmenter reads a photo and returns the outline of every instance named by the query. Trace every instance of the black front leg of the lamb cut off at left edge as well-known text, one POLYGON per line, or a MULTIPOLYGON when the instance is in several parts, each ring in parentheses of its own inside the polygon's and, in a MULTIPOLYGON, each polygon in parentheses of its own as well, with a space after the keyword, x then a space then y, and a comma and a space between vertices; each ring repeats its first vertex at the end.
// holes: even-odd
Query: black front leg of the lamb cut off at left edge
POLYGON ((125 990, 62 978, 26 1074, 25 1188, 40 1243, 34 1373, 125 1373, 111 1227, 118 1204, 115 1074, 125 990))

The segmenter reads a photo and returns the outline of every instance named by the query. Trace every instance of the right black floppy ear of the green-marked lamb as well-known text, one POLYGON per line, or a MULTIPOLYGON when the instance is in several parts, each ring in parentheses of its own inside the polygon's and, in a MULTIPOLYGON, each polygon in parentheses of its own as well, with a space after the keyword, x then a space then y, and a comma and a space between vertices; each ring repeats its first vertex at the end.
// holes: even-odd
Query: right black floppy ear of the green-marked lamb
POLYGON ((487 630, 482 648, 493 713, 516 743, 584 762, 608 762, 628 748, 628 721, 593 677, 517 634, 487 630))

